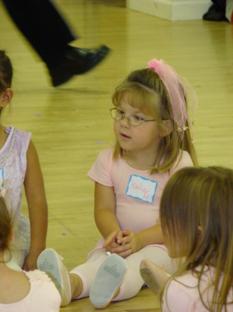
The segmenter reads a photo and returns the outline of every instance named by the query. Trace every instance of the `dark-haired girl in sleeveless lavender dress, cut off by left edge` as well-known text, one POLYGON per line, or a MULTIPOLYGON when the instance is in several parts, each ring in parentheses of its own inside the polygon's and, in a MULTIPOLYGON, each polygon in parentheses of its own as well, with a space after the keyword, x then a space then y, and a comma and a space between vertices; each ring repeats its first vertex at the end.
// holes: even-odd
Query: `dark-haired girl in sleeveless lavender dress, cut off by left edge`
POLYGON ((15 230, 8 266, 35 270, 37 257, 46 248, 48 207, 39 158, 30 132, 3 125, 3 109, 10 105, 13 96, 12 75, 10 58, 0 50, 0 189, 6 189, 6 205, 15 230), (21 214, 23 186, 30 221, 21 214))

